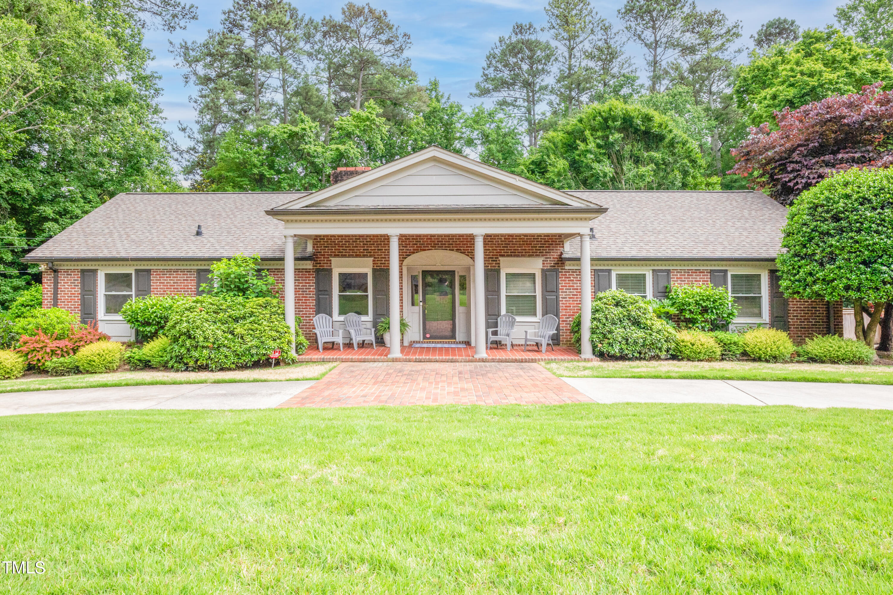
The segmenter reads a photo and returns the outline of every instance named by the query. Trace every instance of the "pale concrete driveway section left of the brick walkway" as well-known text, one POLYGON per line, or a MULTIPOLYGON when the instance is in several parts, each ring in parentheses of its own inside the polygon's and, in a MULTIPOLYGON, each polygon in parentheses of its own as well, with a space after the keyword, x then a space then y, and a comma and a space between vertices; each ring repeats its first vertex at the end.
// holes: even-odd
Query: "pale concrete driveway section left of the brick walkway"
POLYGON ((107 409, 265 409, 315 380, 221 384, 148 384, 0 393, 0 416, 107 409))

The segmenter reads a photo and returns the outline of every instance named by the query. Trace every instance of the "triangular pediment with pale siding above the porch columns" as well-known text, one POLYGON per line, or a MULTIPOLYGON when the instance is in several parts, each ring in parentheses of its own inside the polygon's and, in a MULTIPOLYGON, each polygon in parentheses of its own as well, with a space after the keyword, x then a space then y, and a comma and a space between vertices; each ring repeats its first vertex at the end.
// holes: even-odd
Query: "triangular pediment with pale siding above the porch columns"
POLYGON ((431 146, 277 207, 305 208, 537 205, 594 203, 431 146))

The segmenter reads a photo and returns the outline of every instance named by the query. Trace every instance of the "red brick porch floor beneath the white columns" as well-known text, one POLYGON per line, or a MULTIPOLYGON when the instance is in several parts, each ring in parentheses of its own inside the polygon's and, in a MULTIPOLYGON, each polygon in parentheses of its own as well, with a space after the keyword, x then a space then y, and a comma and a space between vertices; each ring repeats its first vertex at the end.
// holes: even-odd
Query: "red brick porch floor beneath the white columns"
MULTIPOLYGON (((367 343, 368 345, 369 343, 367 343)), ((344 351, 340 351, 336 346, 334 349, 327 343, 320 352, 316 345, 307 348, 304 355, 299 355, 298 361, 452 361, 452 362, 478 362, 480 359, 474 359, 474 348, 466 347, 403 347, 400 350, 403 357, 400 359, 391 359, 388 357, 390 349, 379 344, 375 349, 371 345, 361 347, 354 351, 354 345, 344 346, 344 351)), ((515 362, 515 361, 575 361, 580 359, 580 354, 572 347, 555 347, 552 351, 550 347, 546 353, 538 351, 533 346, 528 346, 527 351, 523 347, 514 346, 512 351, 506 350, 504 347, 489 349, 487 351, 488 359, 485 361, 499 362, 515 362)))

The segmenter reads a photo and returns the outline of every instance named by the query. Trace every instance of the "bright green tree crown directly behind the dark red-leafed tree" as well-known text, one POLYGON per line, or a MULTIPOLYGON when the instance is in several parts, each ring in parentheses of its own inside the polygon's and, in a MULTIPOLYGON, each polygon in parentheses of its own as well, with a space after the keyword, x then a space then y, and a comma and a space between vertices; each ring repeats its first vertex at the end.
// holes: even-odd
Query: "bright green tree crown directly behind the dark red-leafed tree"
POLYGON ((774 45, 739 71, 734 93, 752 126, 774 122, 772 112, 794 110, 830 95, 858 93, 879 80, 893 81, 885 52, 839 29, 806 29, 792 45, 774 45))

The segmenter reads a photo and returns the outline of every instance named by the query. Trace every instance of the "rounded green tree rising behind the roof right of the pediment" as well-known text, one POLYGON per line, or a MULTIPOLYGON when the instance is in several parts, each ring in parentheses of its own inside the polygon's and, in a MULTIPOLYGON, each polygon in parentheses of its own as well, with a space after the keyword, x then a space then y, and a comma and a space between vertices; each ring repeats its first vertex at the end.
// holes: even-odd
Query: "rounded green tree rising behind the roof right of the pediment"
POLYGON ((703 189, 702 167, 697 146, 670 118, 617 100, 564 120, 522 163, 548 186, 593 190, 703 189))

